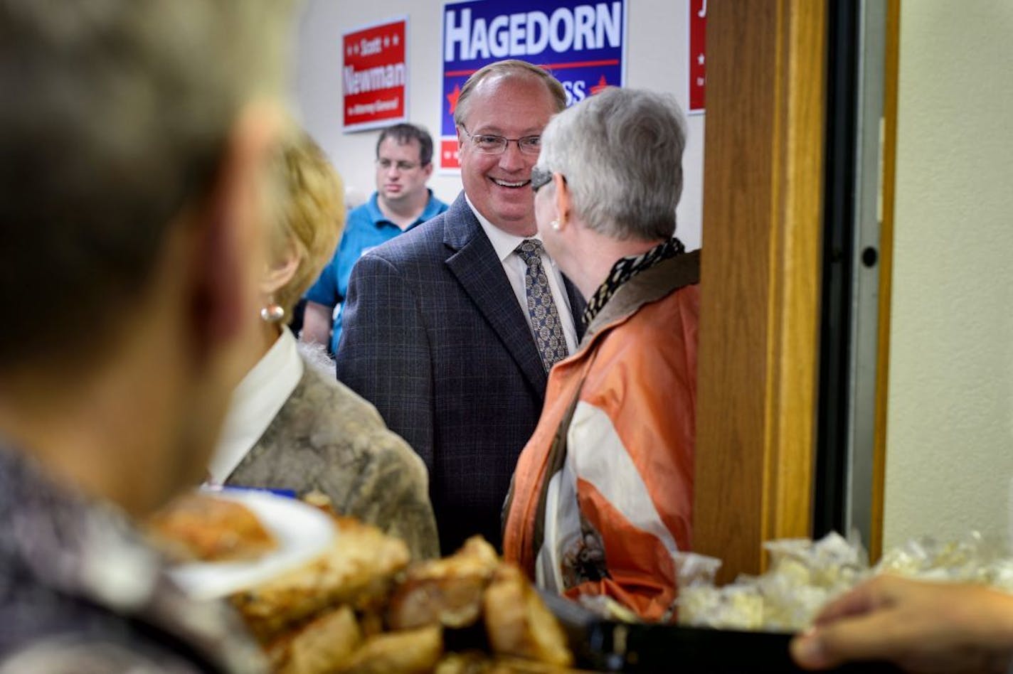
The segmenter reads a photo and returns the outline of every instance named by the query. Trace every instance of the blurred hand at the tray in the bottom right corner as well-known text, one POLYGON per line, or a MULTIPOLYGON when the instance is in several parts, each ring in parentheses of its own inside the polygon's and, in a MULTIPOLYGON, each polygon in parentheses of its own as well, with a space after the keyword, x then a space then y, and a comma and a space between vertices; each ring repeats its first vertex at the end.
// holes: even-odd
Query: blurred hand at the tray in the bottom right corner
POLYGON ((1013 671, 1013 596, 881 576, 831 602, 791 654, 806 669, 876 660, 906 672, 1013 671))

